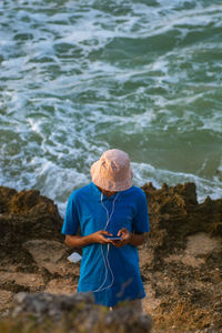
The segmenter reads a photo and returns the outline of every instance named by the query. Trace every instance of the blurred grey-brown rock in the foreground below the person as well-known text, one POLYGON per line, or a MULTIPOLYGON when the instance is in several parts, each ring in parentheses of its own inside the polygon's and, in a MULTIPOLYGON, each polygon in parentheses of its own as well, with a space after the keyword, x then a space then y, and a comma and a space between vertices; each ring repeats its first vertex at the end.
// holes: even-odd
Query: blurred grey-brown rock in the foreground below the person
POLYGON ((94 304, 92 293, 70 296, 19 293, 14 296, 13 317, 32 315, 42 323, 46 319, 59 322, 70 314, 74 332, 95 332, 97 327, 103 326, 105 332, 149 333, 152 326, 148 314, 137 312, 130 306, 104 311, 103 306, 94 304))

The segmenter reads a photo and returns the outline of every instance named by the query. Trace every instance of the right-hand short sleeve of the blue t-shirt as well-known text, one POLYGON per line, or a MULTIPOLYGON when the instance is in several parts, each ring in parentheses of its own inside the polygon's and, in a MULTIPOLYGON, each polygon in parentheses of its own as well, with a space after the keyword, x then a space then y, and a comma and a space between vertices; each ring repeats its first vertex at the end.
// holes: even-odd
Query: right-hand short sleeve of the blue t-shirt
POLYGON ((145 194, 140 189, 137 195, 137 211, 133 219, 132 230, 133 232, 144 233, 150 231, 148 202, 145 194))

